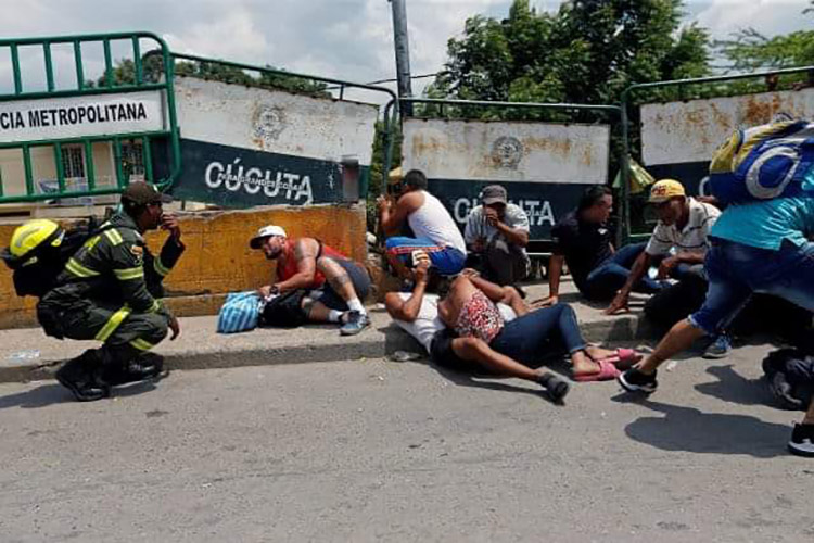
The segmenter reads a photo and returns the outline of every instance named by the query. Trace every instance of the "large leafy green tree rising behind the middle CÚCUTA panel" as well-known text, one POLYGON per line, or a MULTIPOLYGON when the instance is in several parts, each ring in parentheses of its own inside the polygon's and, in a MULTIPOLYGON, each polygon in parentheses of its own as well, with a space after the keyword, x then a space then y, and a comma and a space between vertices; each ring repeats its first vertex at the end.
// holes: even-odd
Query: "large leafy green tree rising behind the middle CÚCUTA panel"
POLYGON ((463 100, 615 103, 633 83, 709 74, 707 31, 682 27, 682 0, 573 0, 507 18, 475 15, 447 46, 429 94, 463 100))

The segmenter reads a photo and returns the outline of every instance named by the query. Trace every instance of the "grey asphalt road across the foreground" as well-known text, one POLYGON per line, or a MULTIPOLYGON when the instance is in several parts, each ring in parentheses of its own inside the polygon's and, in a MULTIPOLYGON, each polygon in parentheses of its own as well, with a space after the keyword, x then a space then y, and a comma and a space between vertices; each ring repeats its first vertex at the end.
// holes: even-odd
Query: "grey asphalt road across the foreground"
POLYGON ((79 404, 0 384, 0 540, 814 541, 800 413, 760 359, 681 362, 647 402, 420 362, 177 371, 79 404))

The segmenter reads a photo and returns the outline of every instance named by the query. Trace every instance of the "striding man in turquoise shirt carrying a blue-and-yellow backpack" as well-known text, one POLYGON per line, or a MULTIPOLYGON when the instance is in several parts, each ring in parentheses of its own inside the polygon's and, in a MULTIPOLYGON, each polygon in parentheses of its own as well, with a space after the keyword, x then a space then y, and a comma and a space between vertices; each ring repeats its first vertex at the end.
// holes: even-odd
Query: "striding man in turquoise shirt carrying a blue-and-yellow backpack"
MULTIPOLYGON (((796 128, 796 124, 778 126, 786 136, 796 128)), ((628 392, 654 392, 657 368, 696 339, 721 333, 753 292, 773 294, 814 311, 814 167, 809 148, 797 155, 779 149, 789 141, 793 143, 789 139, 766 146, 768 152, 761 160, 751 153, 746 160, 738 155, 750 135, 765 134, 765 128, 753 128, 736 135, 713 159, 713 195, 726 197, 726 191, 715 190, 715 184, 720 184, 730 189, 733 198, 724 202, 730 205, 710 230, 712 247, 704 261, 707 299, 700 310, 676 324, 639 366, 619 377, 628 392), (802 161, 796 163, 789 156, 802 156, 802 161), (778 179, 781 182, 776 182, 778 179), (737 190, 752 195, 739 197, 737 190)), ((760 151, 761 146, 754 142, 752 149, 760 151)), ((788 446, 793 454, 814 456, 814 401, 802 424, 794 427, 788 446)))

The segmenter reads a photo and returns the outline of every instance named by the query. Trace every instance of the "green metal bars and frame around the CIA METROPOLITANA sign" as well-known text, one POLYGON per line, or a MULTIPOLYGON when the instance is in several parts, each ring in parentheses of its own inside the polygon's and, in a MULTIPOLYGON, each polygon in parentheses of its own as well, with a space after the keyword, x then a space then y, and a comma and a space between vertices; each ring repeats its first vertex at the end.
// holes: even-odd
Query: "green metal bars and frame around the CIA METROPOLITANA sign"
POLYGON ((164 189, 171 185, 173 180, 180 172, 180 146, 178 138, 178 125, 175 111, 175 96, 173 91, 173 62, 169 49, 162 38, 150 33, 113 33, 113 34, 93 34, 82 36, 60 36, 47 38, 23 38, 23 39, 0 39, 0 51, 9 49, 11 53, 13 92, 0 94, 0 111, 2 103, 12 103, 21 100, 42 100, 59 99, 72 97, 90 97, 90 96, 110 96, 131 92, 143 92, 157 90, 164 94, 166 101, 165 111, 163 111, 163 129, 142 132, 123 132, 105 134, 98 136, 86 136, 76 138, 55 138, 55 139, 35 139, 26 141, 13 141, 0 143, 0 150, 20 149, 23 157, 23 169, 25 175, 25 194, 5 194, 3 187, 2 173, 0 173, 0 203, 14 202, 37 202, 43 200, 54 200, 60 198, 93 197, 103 194, 115 194, 122 192, 127 186, 129 179, 125 176, 123 167, 123 141, 141 141, 141 160, 144 166, 144 177, 148 181, 155 184, 164 189), (148 81, 144 78, 144 66, 142 63, 141 42, 140 40, 151 40, 157 46, 156 53, 162 58, 162 67, 164 71, 163 81, 148 81), (113 66, 113 56, 111 43, 119 41, 129 41, 132 50, 135 76, 132 81, 116 83, 113 66), (86 59, 82 55, 82 46, 91 43, 102 45, 104 54, 104 76, 100 78, 99 85, 89 85, 86 81, 86 59), (66 90, 56 88, 56 78, 53 63, 53 46, 69 45, 73 47, 74 55, 74 74, 76 76, 76 86, 66 90), (24 71, 21 65, 21 48, 40 48, 43 56, 46 86, 44 91, 28 91, 24 85, 24 71), (168 126, 167 126, 168 125, 168 126), (151 142, 155 139, 168 140, 170 148, 171 169, 170 175, 164 179, 153 178, 151 142), (97 167, 93 160, 93 143, 107 142, 112 146, 114 153, 115 186, 99 186, 97 179, 97 167), (85 181, 87 189, 69 190, 66 187, 65 167, 63 163, 64 146, 78 144, 81 147, 85 155, 85 181), (56 192, 42 193, 37 191, 35 180, 35 168, 31 161, 31 151, 41 147, 52 147, 53 162, 56 173, 56 192))

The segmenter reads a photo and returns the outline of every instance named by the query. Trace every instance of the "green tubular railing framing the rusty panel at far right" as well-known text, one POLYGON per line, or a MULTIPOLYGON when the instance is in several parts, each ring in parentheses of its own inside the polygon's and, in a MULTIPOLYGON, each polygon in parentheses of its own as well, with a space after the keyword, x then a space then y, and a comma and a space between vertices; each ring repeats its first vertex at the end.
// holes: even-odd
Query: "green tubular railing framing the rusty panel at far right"
MULTIPOLYGON (((688 85, 704 85, 710 83, 732 83, 745 79, 756 79, 766 78, 770 76, 781 76, 790 74, 812 73, 814 66, 799 66, 785 70, 774 70, 770 72, 758 72, 750 74, 737 74, 737 75, 723 75, 715 77, 698 77, 692 79, 675 79, 670 81, 657 81, 657 83, 645 83, 638 85, 632 85, 627 87, 623 92, 620 100, 621 106, 621 124, 622 124, 622 147, 623 153, 621 156, 621 174, 622 174, 622 224, 624 225, 624 231, 622 235, 623 242, 645 241, 649 239, 650 233, 633 233, 631 223, 631 171, 629 171, 629 156, 631 156, 631 135, 629 135, 629 116, 628 106, 631 99, 635 92, 643 90, 652 90, 658 88, 666 87, 686 87, 688 85)), ((733 94, 724 94, 733 96, 733 94)), ((745 96, 745 94, 743 94, 745 96)), ((639 104, 641 105, 641 104, 639 104)))

